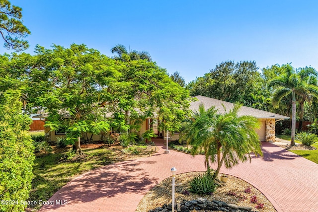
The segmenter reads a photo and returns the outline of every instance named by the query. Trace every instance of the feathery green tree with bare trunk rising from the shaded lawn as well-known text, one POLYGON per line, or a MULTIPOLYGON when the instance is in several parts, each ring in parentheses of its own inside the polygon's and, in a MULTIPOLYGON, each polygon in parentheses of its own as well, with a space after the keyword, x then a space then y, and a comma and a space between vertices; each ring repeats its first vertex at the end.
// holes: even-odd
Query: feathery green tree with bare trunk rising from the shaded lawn
POLYGON ((109 98, 107 89, 120 75, 118 66, 94 49, 72 44, 69 49, 36 47, 34 64, 29 71, 30 102, 47 109, 46 126, 65 129, 67 139, 80 149, 82 133, 99 134, 110 130, 101 107, 109 98))

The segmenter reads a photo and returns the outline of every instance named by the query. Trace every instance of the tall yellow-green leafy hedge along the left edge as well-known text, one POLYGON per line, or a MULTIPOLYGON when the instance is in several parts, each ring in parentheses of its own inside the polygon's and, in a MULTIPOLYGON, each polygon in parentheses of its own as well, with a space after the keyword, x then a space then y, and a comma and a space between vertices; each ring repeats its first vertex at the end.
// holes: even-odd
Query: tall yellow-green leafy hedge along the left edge
POLYGON ((32 120, 21 113, 20 93, 0 94, 0 200, 18 200, 18 204, 0 204, 2 212, 24 211, 33 178, 34 146, 28 134, 32 120))

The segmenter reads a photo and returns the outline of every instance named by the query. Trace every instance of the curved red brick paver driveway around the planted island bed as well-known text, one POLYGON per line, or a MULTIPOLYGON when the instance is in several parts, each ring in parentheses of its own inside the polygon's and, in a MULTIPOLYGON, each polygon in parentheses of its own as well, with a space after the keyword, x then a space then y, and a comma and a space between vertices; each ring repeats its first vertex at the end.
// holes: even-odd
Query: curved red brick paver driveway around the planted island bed
MULTIPOLYGON (((163 179, 177 173, 204 171, 203 155, 170 150, 162 140, 152 157, 123 161, 89 171, 60 189, 40 212, 134 212, 143 196, 163 179), (67 200, 67 205, 55 201, 67 200)), ((318 164, 263 142, 263 158, 252 158, 223 173, 237 176, 259 189, 278 212, 318 211, 318 164)), ((215 168, 214 166, 212 166, 215 168)))

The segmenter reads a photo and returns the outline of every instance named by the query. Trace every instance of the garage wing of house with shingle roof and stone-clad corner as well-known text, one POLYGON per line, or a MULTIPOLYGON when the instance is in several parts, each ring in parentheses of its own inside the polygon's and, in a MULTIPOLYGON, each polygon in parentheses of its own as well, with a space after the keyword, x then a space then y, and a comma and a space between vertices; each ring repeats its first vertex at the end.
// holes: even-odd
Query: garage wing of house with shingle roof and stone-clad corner
MULTIPOLYGON (((218 99, 213 99, 206 96, 195 96, 198 101, 191 102, 190 109, 192 111, 198 111, 199 105, 203 104, 205 109, 208 109, 214 106, 220 113, 225 113, 224 107, 226 110, 230 110, 234 107, 234 104, 231 102, 221 101, 218 99)), ((271 113, 263 110, 258 110, 251 107, 242 106, 238 112, 239 116, 251 115, 254 116, 260 122, 260 129, 256 129, 256 133, 260 141, 275 141, 275 123, 282 119, 289 119, 287 116, 282 116, 276 113, 271 113)), ((178 134, 175 134, 171 137, 171 140, 177 140, 178 134)))

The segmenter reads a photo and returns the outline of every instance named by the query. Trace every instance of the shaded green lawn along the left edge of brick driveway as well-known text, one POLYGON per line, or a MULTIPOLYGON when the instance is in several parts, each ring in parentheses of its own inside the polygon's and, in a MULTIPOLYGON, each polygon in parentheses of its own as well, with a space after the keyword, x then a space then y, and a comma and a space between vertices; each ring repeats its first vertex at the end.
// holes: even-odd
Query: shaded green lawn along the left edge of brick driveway
MULTIPOLYGON (((110 163, 136 157, 134 152, 123 153, 121 146, 105 146, 95 149, 84 149, 84 155, 73 157, 71 152, 49 153, 34 160, 32 190, 29 201, 47 201, 55 192, 76 176, 110 163)), ((140 156, 152 154, 152 148, 138 146, 140 156)), ((31 206, 32 211, 41 208, 31 206)))

